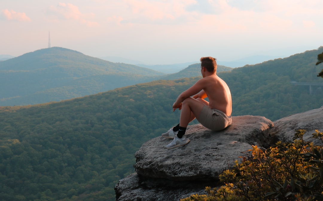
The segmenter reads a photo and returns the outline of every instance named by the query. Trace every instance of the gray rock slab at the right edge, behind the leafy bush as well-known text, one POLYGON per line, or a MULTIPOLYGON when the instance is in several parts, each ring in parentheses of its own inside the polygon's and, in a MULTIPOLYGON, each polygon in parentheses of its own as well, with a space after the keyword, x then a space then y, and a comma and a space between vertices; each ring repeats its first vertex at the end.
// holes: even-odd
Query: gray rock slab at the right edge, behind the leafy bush
POLYGON ((275 135, 282 142, 292 142, 294 134, 298 129, 306 130, 303 139, 323 145, 321 141, 312 138, 315 130, 323 131, 323 106, 303 113, 292 114, 274 122, 275 127, 270 134, 275 135))

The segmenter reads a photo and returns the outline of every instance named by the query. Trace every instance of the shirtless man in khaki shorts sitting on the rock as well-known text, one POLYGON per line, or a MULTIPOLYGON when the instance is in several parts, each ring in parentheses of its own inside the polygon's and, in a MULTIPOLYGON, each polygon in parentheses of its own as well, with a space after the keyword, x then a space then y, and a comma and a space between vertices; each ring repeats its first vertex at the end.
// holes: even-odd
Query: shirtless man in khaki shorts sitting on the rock
POLYGON ((232 123, 232 100, 227 84, 216 75, 216 59, 202 57, 201 73, 203 78, 192 87, 182 92, 173 104, 173 111, 181 111, 180 123, 169 131, 161 134, 162 137, 173 139, 166 146, 172 149, 189 143, 184 134, 188 123, 195 118, 206 128, 220 131, 232 123), (210 102, 204 100, 208 97, 210 102))

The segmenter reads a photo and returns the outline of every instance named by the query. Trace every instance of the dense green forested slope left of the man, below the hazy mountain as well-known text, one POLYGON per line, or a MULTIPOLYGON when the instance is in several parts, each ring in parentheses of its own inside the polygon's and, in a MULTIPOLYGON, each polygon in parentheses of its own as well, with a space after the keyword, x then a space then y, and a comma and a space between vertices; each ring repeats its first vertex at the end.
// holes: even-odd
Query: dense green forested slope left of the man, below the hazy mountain
POLYGON ((134 152, 178 122, 197 78, 154 81, 59 103, 1 107, 0 200, 115 200, 134 152))

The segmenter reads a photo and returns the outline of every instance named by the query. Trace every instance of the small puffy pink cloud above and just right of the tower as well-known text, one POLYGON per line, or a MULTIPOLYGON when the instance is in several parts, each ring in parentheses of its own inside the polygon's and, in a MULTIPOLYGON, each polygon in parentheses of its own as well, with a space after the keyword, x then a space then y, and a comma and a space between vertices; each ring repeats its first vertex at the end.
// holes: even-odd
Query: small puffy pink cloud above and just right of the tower
MULTIPOLYGON (((60 20, 75 20, 82 24, 86 24, 88 27, 99 25, 97 22, 87 20, 87 18, 92 18, 94 16, 93 13, 82 14, 78 7, 73 4, 58 3, 56 7, 50 6, 49 14, 60 20)), ((55 21, 57 21, 57 19, 55 21)))

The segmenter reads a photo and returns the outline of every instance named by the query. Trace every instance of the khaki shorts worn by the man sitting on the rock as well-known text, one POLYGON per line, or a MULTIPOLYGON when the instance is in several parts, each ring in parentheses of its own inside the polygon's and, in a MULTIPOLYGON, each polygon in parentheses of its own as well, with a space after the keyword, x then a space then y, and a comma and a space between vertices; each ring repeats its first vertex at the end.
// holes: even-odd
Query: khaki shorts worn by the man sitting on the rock
POLYGON ((197 121, 212 131, 220 131, 232 123, 232 117, 231 115, 228 117, 220 110, 211 109, 204 105, 197 121))

